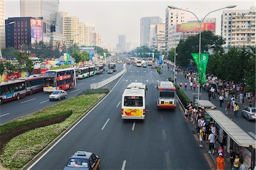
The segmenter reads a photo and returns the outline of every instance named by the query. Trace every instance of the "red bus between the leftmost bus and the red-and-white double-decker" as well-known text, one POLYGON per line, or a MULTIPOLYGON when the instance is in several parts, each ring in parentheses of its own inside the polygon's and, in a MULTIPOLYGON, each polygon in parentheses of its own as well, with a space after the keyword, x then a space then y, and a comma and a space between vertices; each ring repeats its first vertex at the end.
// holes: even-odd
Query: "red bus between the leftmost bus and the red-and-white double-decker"
POLYGON ((26 95, 32 95, 34 92, 43 91, 44 75, 31 75, 18 80, 25 80, 26 82, 26 95))

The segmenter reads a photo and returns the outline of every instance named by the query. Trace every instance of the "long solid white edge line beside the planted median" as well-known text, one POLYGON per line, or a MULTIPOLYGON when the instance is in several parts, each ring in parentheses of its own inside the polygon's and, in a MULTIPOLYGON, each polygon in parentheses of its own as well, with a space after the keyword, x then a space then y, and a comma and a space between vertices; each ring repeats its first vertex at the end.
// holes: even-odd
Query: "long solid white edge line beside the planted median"
MULTIPOLYGON (((125 72, 126 73, 126 72, 125 72)), ((123 75, 125 75, 125 73, 123 75)), ((102 101, 104 101, 106 99, 106 97, 108 97, 111 92, 115 89, 115 87, 117 86, 117 84, 119 83, 119 81, 122 79, 123 75, 121 76, 121 78, 117 81, 117 83, 115 83, 115 86, 112 88, 112 90, 108 93, 108 95, 106 95, 102 100, 100 100, 87 114, 85 114, 84 117, 82 117, 71 129, 69 129, 67 131, 67 133, 65 133, 56 143, 54 143, 50 148, 48 148, 48 150, 46 150, 46 152, 44 152, 44 154, 42 156, 40 156, 40 158, 38 158, 32 165, 30 165, 30 167, 28 167, 28 170, 31 169, 32 167, 35 166, 35 164, 37 164, 44 156, 46 156, 46 154, 48 154, 49 151, 52 150, 53 147, 55 147, 63 138, 65 138, 66 135, 68 135, 78 124, 80 124, 80 122, 82 120, 84 120, 84 118, 86 116, 88 116, 96 107, 98 107, 99 104, 101 104, 102 101)))

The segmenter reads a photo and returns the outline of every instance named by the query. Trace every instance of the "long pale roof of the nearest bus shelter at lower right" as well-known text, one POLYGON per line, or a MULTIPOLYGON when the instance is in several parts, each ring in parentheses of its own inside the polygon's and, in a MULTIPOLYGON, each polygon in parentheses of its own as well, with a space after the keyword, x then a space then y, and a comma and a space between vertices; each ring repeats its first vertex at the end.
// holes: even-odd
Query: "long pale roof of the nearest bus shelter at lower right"
POLYGON ((218 110, 205 109, 205 112, 237 143, 238 146, 256 148, 256 141, 253 137, 242 130, 235 122, 230 120, 224 113, 218 110))

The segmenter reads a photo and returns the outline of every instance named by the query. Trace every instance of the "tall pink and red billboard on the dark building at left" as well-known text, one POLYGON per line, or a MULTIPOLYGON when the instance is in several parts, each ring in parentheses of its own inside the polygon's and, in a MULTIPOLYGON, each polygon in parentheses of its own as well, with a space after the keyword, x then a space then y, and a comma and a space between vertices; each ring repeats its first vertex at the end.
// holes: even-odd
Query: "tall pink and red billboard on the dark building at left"
POLYGON ((43 20, 30 19, 31 44, 43 41, 43 20))

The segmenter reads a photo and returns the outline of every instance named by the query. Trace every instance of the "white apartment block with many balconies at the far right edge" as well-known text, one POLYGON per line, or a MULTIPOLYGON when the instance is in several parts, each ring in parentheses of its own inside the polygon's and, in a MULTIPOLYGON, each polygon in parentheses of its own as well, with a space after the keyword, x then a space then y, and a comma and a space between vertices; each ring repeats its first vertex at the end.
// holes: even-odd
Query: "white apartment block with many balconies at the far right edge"
POLYGON ((255 7, 250 10, 224 10, 221 15, 221 36, 228 46, 255 47, 255 7))

